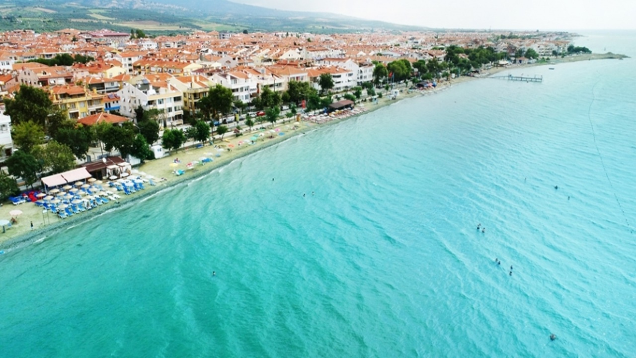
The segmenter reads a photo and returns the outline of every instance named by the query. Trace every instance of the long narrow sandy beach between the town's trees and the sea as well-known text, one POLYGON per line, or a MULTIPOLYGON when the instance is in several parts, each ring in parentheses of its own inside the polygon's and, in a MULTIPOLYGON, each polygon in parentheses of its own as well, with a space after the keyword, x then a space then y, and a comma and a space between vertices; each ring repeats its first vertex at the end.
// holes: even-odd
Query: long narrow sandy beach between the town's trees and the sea
MULTIPOLYGON (((40 206, 36 206, 36 204, 34 203, 27 202, 24 204, 14 205, 10 201, 6 201, 3 203, 3 206, 0 207, 0 219, 9 220, 11 218, 11 210, 21 210, 22 214, 16 217, 16 224, 13 224, 11 228, 5 228, 4 233, 0 233, 0 251, 6 252, 8 250, 11 250, 11 248, 19 247, 21 243, 26 244, 32 241, 46 238, 47 236, 50 236, 51 234, 64 229, 64 227, 72 226, 74 224, 78 224, 79 222, 84 222, 86 220, 89 220, 90 218, 96 217, 97 215, 101 215, 108 210, 125 210, 127 206, 134 204, 139 199, 143 199, 153 194, 160 193, 161 190, 167 189, 169 187, 174 187, 179 183, 190 181, 194 178, 206 175, 212 170, 220 168, 221 166, 225 166, 235 159, 252 154, 263 148, 270 147, 271 145, 280 143, 298 134, 303 134, 303 132, 319 129, 320 127, 324 127, 325 125, 334 124, 342 120, 346 120, 347 118, 357 117, 368 111, 377 110, 388 104, 394 103, 395 101, 410 97, 435 94, 437 92, 449 89, 450 87, 459 83, 464 83, 469 80, 475 80, 476 78, 485 78, 486 76, 494 75, 495 73, 507 71, 509 69, 530 66, 543 66, 559 62, 620 58, 620 56, 621 55, 611 54, 578 55, 565 57, 564 59, 555 59, 555 61, 552 61, 550 63, 529 64, 523 66, 513 65, 506 68, 492 68, 488 71, 485 71, 485 73, 483 73, 483 75, 481 75, 480 77, 462 76, 459 78, 454 78, 452 80, 440 82, 434 89, 406 90, 406 87, 400 87, 401 93, 395 100, 389 99, 387 96, 385 96, 379 99, 377 104, 371 102, 363 102, 357 104, 354 111, 342 111, 339 113, 339 115, 335 115, 334 117, 321 117, 321 120, 315 120, 315 118, 314 120, 312 120, 311 118, 304 118, 300 122, 296 122, 295 120, 286 120, 286 122, 279 122, 273 127, 272 124, 267 123, 263 124, 264 129, 261 129, 261 124, 258 124, 252 129, 252 131, 246 129, 244 133, 238 137, 232 133, 227 133, 223 140, 216 140, 214 142, 214 145, 205 143, 205 145, 200 148, 197 148, 197 146, 182 148, 178 151, 170 153, 170 155, 167 155, 162 159, 148 161, 141 166, 134 168, 131 175, 132 177, 139 176, 140 178, 146 178, 146 175, 151 175, 155 178, 153 180, 156 183, 155 186, 151 186, 149 185, 149 182, 146 182, 144 183, 146 189, 139 190, 134 194, 125 195, 123 194, 123 192, 117 192, 116 194, 120 196, 119 199, 111 200, 109 203, 97 206, 93 210, 85 211, 83 213, 79 213, 73 215, 72 217, 64 219, 59 218, 57 215, 51 212, 43 211, 43 208, 41 208, 40 206), (280 135, 281 132, 284 132, 284 135, 280 135), (250 140, 252 136, 258 137, 258 140, 256 140, 253 144, 250 140), (212 159, 213 161, 204 164, 202 163, 202 158, 204 157, 212 159), (179 163, 172 164, 177 158, 179 159, 179 163), (191 168, 188 168, 186 166, 186 164, 188 163, 193 163, 191 168), (172 166, 170 164, 172 164, 172 166), (184 174, 177 176, 173 173, 173 171, 179 169, 183 170, 184 174), (160 181, 160 178, 165 178, 166 180, 160 181)), ((107 183, 104 182, 102 186, 107 187, 107 183)))

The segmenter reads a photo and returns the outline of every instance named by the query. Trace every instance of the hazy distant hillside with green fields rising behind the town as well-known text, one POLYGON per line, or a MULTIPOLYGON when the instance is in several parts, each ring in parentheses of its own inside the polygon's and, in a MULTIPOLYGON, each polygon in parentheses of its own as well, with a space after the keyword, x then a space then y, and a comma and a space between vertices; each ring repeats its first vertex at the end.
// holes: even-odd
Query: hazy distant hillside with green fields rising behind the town
POLYGON ((226 0, 5 0, 0 30, 52 31, 65 27, 169 34, 204 31, 354 32, 424 30, 333 13, 283 11, 226 0))

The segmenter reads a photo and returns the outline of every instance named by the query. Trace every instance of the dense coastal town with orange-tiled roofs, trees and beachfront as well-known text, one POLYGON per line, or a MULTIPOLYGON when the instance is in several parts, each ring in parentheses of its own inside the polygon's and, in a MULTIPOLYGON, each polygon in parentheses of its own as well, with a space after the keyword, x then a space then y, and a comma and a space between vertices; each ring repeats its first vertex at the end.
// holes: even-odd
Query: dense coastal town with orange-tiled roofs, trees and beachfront
POLYGON ((203 175, 399 96, 589 54, 572 36, 4 32, 0 241, 203 175))

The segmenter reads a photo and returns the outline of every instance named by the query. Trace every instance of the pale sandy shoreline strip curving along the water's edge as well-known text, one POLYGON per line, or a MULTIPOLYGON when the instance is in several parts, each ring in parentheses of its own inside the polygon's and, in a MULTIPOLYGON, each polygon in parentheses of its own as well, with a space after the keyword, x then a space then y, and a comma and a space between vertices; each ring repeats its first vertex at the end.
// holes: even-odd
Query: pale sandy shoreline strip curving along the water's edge
MULTIPOLYGON (((403 87, 403 89, 401 90, 402 92, 400 93, 400 96, 396 100, 391 100, 386 96, 380 99, 380 101, 378 101, 378 104, 373 104, 371 102, 357 104, 356 108, 364 108, 364 111, 362 111, 361 113, 349 115, 346 117, 333 118, 332 120, 329 120, 328 122, 325 122, 323 124, 314 124, 312 122, 308 122, 307 120, 302 120, 301 122, 295 122, 295 120, 290 119, 289 122, 283 122, 275 126, 266 127, 265 133, 273 128, 277 128, 280 130, 284 130, 285 135, 279 136, 276 134, 275 138, 272 138, 272 139, 263 138, 263 140, 260 143, 258 143, 257 141, 256 145, 243 145, 241 147, 240 144, 236 145, 236 143, 238 143, 239 141, 245 140, 246 138, 249 138, 250 134, 253 135, 253 134, 259 134, 263 132, 258 129, 252 130, 249 132, 246 131, 245 134, 243 134, 240 137, 232 136, 230 137, 231 139, 225 138, 224 140, 217 142, 219 143, 219 146, 234 145, 235 150, 233 150, 232 152, 224 152, 224 154, 221 157, 214 157, 214 155, 210 155, 214 157, 214 161, 212 163, 206 164, 205 166, 202 166, 200 164, 198 165, 195 164, 194 169, 186 170, 186 173, 181 176, 174 176, 170 174, 173 168, 169 168, 169 164, 170 162, 173 161, 173 159, 177 157, 185 157, 186 159, 184 159, 182 162, 195 161, 198 159, 198 157, 202 157, 205 154, 209 154, 208 152, 211 152, 213 149, 216 149, 215 148, 216 146, 212 147, 212 145, 204 145, 204 147, 201 147, 201 148, 190 147, 190 148, 181 149, 179 150, 179 152, 171 152, 170 155, 165 155, 161 159, 155 159, 153 161, 145 162, 144 164, 141 164, 140 166, 136 168, 138 171, 146 172, 148 174, 155 176, 156 178, 161 178, 161 177, 168 178, 167 181, 159 182, 157 183, 156 186, 150 186, 149 184, 147 184, 146 189, 144 190, 138 191, 135 194, 131 194, 130 196, 125 196, 124 194, 121 194, 121 198, 118 199, 117 201, 114 201, 112 204, 103 204, 102 206, 98 206, 97 208, 90 211, 86 211, 85 213, 73 215, 73 217, 60 219, 57 216, 55 216, 55 214, 51 215, 50 213, 48 213, 47 215, 48 215, 49 223, 46 224, 45 215, 44 213, 41 212, 42 208, 32 203, 31 204, 25 203, 26 206, 24 206, 24 210, 23 210, 23 204, 20 204, 18 206, 7 204, 7 205, 4 205, 3 207, 0 207, 0 217, 10 217, 10 215, 8 214, 8 211, 10 210, 19 209, 24 211, 24 214, 18 217, 19 219, 18 223, 21 223, 21 224, 16 224, 11 229, 8 229, 5 234, 0 236, 0 250, 3 250, 4 254, 6 254, 13 250, 17 250, 27 245, 31 245, 32 243, 39 243, 41 241, 46 240, 50 236, 60 233, 60 231, 63 231, 64 229, 68 229, 78 224, 82 224, 83 222, 88 222, 90 220, 93 220, 96 217, 99 217, 100 215, 104 215, 108 213, 109 211, 126 209, 129 206, 132 206, 132 204, 137 203, 144 199, 149 199, 150 197, 153 197, 162 191, 176 189, 177 187, 179 187, 179 185, 183 185, 183 183, 191 182, 195 179, 201 178, 202 176, 208 175, 209 173, 212 173, 213 171, 217 169, 225 167, 226 165, 232 163, 233 161, 237 159, 241 159, 247 155, 254 154, 258 152, 259 150, 272 147, 273 145, 278 145, 279 143, 283 143, 289 138, 293 138, 300 134, 305 134, 305 132, 308 132, 308 131, 315 131, 322 127, 328 127, 329 125, 338 124, 344 120, 349 120, 350 118, 360 117, 361 115, 364 115, 365 113, 370 113, 372 111, 379 110, 380 108, 384 108, 385 106, 398 103, 399 101, 403 101, 403 100, 410 99, 412 97, 418 97, 418 96, 431 96, 432 94, 437 94, 438 92, 443 92, 447 89, 450 89, 454 85, 458 85, 460 83, 466 83, 471 80, 476 80, 480 78, 488 78, 488 76, 492 76, 501 71, 506 71, 510 69, 518 69, 518 68, 526 68, 526 67, 534 67, 534 66, 549 66, 551 64, 588 61, 591 59, 623 59, 623 58, 629 58, 629 57, 625 55, 618 55, 618 54, 611 54, 611 53, 578 55, 572 58, 565 57, 567 61, 558 61, 558 60, 564 60, 564 59, 558 58, 558 59, 555 59, 556 61, 550 61, 550 62, 515 65, 515 66, 509 66, 509 67, 502 67, 502 68, 491 68, 487 70, 488 72, 487 75, 477 76, 477 77, 460 76, 459 78, 454 78, 450 81, 440 82, 438 87, 431 90, 409 91, 406 87, 403 87), (290 129, 290 125, 293 125, 293 124, 300 124, 300 127, 298 129, 290 129), (39 222, 39 215, 42 215, 42 219, 41 219, 42 222, 39 222), (53 219, 50 218, 51 216, 53 216, 53 219), (33 222, 34 224, 37 221, 37 227, 34 226, 34 229, 30 229, 28 224, 29 221, 33 222)), ((175 168, 175 169, 179 169, 179 168, 175 168)), ((4 255, 0 255, 0 259, 3 256, 4 255)))

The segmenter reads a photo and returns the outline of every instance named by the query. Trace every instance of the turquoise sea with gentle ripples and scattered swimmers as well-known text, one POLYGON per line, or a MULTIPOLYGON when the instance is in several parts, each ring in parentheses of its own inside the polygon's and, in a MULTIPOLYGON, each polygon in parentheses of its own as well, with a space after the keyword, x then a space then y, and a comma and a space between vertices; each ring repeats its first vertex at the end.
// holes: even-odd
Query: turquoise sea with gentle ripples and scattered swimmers
POLYGON ((399 101, 8 250, 0 357, 633 357, 635 61, 399 101))

